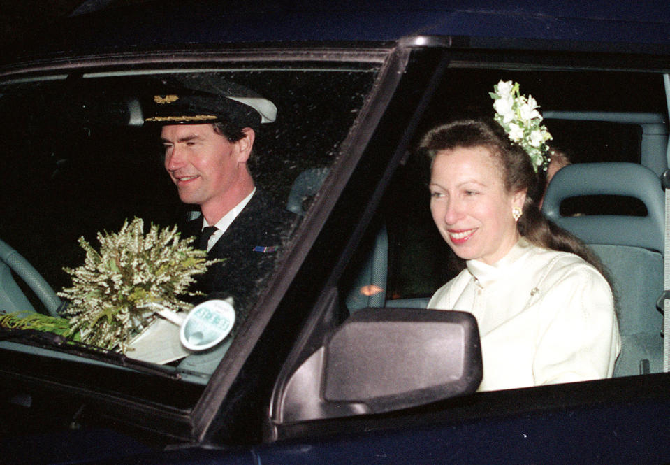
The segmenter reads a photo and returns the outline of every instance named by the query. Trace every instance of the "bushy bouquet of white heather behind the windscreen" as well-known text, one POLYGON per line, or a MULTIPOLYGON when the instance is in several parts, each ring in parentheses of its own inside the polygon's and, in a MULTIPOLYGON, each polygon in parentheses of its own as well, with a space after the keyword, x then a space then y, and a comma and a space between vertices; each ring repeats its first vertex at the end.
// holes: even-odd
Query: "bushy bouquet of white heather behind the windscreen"
POLYGON ((159 230, 152 224, 144 234, 144 222, 124 222, 118 233, 98 233, 100 252, 82 237, 85 263, 64 269, 72 287, 58 295, 68 299, 62 312, 71 331, 81 341, 100 348, 126 351, 130 339, 153 319, 151 306, 159 303, 175 312, 189 303, 177 298, 187 292, 194 276, 219 260, 207 260, 207 252, 191 247, 193 238, 181 239, 177 227, 159 230))

